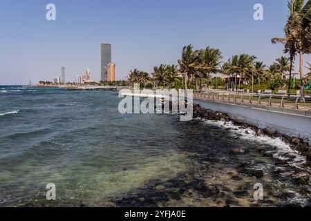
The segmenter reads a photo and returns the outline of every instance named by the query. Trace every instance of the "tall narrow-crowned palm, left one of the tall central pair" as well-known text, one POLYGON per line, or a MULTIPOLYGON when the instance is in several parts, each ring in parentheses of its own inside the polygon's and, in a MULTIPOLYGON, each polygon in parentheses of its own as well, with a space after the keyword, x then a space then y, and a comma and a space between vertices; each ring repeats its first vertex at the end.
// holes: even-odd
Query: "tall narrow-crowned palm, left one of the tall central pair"
POLYGON ((178 64, 180 66, 180 72, 183 77, 185 77, 185 93, 187 94, 188 90, 188 77, 191 73, 194 73, 195 61, 197 59, 196 52, 193 50, 194 47, 185 46, 182 49, 182 58, 178 60, 178 64))

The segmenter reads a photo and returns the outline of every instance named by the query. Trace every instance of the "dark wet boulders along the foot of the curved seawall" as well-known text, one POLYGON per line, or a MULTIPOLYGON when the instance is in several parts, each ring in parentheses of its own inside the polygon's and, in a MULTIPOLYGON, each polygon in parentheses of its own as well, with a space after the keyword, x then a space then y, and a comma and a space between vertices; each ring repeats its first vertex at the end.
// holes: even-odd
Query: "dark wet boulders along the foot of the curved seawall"
MULTIPOLYGON (((277 131, 270 131, 268 129, 261 129, 251 124, 247 124, 240 119, 232 119, 227 115, 227 113, 220 111, 211 111, 209 109, 202 108, 199 104, 194 104, 194 118, 212 120, 212 121, 223 121, 232 122, 233 125, 238 126, 240 128, 246 128, 252 130, 256 133, 256 135, 266 135, 272 138, 280 138, 286 144, 289 144, 292 150, 297 151, 300 155, 305 157, 305 163, 303 164, 303 169, 295 169, 295 173, 291 175, 292 180, 296 185, 308 185, 310 181, 310 166, 311 166, 311 147, 307 142, 303 142, 302 139, 298 137, 289 137, 287 135, 283 135, 277 131)), ((246 131, 247 133, 247 131, 246 131)), ((234 153, 232 153, 234 154, 234 153)), ((263 157, 267 157, 269 159, 274 160, 275 166, 290 166, 290 162, 288 160, 281 160, 274 155, 270 151, 263 150, 263 157)), ((238 172, 243 173, 245 175, 251 175, 254 177, 263 177, 263 170, 259 169, 251 169, 252 164, 249 162, 245 162, 238 166, 238 172)), ((274 171, 274 173, 282 173, 284 171, 274 171)))

